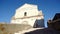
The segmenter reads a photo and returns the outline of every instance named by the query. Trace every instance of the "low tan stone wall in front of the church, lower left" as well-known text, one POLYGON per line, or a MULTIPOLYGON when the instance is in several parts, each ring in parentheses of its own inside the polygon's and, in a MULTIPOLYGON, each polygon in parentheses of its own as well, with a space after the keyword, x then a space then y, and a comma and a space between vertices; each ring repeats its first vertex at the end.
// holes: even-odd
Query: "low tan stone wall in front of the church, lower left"
POLYGON ((0 24, 0 34, 13 34, 18 31, 32 28, 30 25, 24 24, 0 24))

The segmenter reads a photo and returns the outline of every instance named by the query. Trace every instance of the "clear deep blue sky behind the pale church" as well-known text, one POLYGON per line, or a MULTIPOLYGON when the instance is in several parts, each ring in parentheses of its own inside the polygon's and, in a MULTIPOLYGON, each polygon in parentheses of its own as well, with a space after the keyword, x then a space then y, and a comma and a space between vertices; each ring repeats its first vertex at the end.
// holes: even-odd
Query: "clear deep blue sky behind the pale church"
POLYGON ((60 13, 60 0, 0 0, 0 22, 9 23, 15 10, 24 3, 38 5, 38 10, 43 11, 45 26, 48 19, 60 13))

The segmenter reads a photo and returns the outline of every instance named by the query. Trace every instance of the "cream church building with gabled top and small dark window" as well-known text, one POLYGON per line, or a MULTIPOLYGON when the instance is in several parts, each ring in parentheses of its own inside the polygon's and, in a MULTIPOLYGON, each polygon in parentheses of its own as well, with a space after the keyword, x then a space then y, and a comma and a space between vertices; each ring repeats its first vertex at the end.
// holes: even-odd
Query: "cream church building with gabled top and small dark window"
POLYGON ((32 27, 44 27, 44 16, 37 5, 25 3, 16 9, 11 24, 26 24, 32 27))

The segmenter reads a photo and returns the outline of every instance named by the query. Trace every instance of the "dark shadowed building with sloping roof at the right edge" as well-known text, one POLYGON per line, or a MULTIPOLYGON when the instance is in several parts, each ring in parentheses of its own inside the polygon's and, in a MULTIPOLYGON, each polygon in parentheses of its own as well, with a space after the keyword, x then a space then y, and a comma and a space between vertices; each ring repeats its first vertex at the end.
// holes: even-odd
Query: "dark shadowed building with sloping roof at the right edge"
POLYGON ((48 22, 48 28, 53 28, 57 31, 60 31, 60 13, 56 13, 52 20, 48 22))

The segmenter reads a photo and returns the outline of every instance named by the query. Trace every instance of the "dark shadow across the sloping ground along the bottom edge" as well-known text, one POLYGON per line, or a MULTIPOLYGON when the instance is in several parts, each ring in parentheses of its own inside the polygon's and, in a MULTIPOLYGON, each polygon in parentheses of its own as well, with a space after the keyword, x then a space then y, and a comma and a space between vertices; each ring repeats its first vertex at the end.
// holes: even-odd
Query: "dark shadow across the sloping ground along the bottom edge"
POLYGON ((60 32, 54 30, 54 29, 38 29, 31 32, 26 32, 25 34, 60 34, 60 32))

